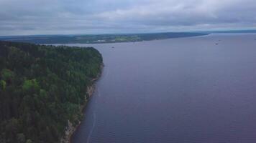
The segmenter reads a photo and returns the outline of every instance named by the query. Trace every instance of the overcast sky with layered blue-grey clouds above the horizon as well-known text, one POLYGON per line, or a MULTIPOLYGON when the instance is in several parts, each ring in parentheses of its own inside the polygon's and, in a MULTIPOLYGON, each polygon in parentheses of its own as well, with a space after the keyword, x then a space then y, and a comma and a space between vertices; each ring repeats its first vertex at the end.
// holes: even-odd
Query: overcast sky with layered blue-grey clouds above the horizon
POLYGON ((0 0, 0 35, 256 29, 255 0, 0 0))

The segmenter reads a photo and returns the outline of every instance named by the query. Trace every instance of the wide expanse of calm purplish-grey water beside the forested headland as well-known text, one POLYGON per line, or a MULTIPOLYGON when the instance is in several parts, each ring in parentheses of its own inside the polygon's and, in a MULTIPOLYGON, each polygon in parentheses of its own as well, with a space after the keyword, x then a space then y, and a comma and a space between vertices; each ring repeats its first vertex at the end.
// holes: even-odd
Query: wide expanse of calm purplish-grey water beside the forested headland
POLYGON ((93 45, 105 67, 73 142, 255 143, 255 39, 93 45))

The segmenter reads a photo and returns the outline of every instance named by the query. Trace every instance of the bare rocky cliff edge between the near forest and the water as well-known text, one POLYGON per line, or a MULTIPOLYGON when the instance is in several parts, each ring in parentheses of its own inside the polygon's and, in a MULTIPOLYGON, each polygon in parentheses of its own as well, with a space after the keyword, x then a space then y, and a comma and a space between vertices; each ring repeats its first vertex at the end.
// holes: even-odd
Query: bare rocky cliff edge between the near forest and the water
MULTIPOLYGON (((88 100, 92 97, 93 93, 96 90, 96 82, 97 80, 101 77, 103 68, 104 68, 104 63, 101 64, 100 66, 100 72, 97 75, 96 78, 91 79, 91 85, 89 85, 88 87, 86 87, 86 95, 88 95, 88 97, 86 96, 86 102, 81 105, 81 114, 84 116, 83 111, 84 109, 86 109, 86 105, 88 100)), ((78 121, 78 124, 76 124, 76 126, 73 126, 73 124, 68 120, 68 126, 65 129, 64 135, 63 137, 60 139, 60 143, 72 143, 71 142, 71 138, 73 137, 73 134, 76 132, 76 130, 78 129, 78 127, 80 126, 81 121, 78 121)))

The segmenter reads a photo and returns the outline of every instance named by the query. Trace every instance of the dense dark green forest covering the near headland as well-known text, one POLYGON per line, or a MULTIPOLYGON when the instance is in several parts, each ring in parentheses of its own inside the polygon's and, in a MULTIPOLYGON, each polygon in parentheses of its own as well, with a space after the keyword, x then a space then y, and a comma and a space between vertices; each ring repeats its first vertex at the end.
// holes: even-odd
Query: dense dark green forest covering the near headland
POLYGON ((59 142, 101 64, 93 48, 0 41, 0 143, 59 142))

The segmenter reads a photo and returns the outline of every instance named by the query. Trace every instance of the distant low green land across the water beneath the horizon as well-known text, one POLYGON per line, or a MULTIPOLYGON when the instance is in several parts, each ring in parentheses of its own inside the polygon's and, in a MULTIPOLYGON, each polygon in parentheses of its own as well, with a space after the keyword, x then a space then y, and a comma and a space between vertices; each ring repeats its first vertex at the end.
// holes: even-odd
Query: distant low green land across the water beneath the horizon
POLYGON ((150 41, 188 36, 203 36, 207 33, 175 32, 157 34, 92 34, 92 35, 40 35, 40 36, 0 36, 3 41, 22 41, 33 44, 95 44, 132 41, 150 41))

